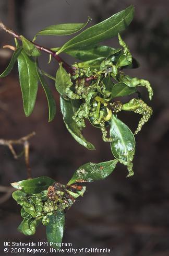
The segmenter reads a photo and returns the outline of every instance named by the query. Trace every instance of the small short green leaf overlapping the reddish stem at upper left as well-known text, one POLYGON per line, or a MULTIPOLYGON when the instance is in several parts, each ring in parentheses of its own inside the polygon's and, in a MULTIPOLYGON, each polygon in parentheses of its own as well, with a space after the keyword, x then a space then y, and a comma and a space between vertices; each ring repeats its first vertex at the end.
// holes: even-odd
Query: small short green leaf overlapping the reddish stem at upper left
POLYGON ((32 42, 30 42, 23 36, 20 36, 20 38, 22 40, 23 49, 28 56, 38 57, 41 55, 41 52, 35 47, 32 42))

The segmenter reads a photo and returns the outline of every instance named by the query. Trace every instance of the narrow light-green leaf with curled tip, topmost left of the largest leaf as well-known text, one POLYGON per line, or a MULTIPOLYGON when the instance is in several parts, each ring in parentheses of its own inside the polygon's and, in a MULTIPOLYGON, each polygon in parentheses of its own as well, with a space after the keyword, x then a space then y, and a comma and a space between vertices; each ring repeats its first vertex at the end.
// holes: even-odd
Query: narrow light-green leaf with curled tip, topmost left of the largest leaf
POLYGON ((83 29, 90 20, 91 18, 88 17, 88 21, 86 23, 52 25, 39 31, 37 36, 65 36, 68 34, 74 34, 83 29))

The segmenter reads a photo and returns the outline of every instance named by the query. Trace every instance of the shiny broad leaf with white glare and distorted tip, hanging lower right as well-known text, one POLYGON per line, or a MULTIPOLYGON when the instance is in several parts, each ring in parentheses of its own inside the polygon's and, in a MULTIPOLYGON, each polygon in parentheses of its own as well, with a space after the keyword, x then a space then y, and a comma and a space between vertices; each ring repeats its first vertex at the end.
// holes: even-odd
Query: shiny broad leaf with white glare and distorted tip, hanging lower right
POLYGON ((122 164, 128 168, 128 177, 134 174, 132 170, 132 159, 135 153, 135 137, 122 121, 112 115, 110 136, 112 153, 122 164))

